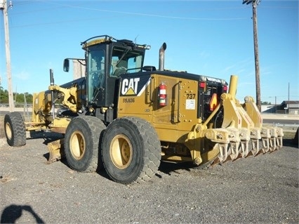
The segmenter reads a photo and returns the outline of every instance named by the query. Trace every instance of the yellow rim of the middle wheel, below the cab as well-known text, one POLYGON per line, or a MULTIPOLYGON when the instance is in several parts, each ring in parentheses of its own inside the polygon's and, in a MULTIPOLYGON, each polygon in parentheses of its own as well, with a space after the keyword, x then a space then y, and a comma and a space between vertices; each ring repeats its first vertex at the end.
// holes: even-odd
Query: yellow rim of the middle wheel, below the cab
POLYGON ((85 138, 81 131, 74 131, 72 133, 72 136, 69 140, 69 148, 72 153, 72 156, 75 159, 81 159, 84 156, 85 153, 85 138))

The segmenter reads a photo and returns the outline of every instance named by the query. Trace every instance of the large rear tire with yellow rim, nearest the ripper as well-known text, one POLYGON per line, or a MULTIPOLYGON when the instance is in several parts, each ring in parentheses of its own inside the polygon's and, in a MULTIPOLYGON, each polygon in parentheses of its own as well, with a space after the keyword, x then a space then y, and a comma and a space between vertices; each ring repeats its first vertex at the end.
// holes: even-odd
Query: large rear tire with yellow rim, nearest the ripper
POLYGON ((150 180, 161 162, 161 143, 152 125, 137 117, 112 121, 102 138, 102 162, 117 183, 150 180))

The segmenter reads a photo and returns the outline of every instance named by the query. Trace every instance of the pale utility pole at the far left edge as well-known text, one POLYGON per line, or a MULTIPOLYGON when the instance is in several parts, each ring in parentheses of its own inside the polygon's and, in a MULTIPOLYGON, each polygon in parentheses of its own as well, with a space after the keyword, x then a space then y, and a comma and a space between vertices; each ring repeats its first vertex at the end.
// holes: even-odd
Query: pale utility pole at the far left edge
MULTIPOLYGON (((12 7, 13 4, 9 3, 9 7, 12 7)), ((8 30, 8 7, 6 0, 0 0, 0 9, 3 11, 4 16, 4 33, 5 33, 5 50, 6 50, 6 74, 7 74, 7 83, 8 83, 8 103, 9 111, 14 111, 13 105, 13 85, 11 81, 11 51, 9 46, 9 30, 8 30)))

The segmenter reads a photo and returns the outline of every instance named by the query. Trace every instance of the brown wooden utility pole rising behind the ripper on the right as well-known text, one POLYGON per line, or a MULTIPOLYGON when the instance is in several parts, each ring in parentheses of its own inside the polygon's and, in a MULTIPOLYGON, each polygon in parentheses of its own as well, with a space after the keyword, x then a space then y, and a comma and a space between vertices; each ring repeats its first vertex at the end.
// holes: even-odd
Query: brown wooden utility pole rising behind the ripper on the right
POLYGON ((254 60, 255 60, 255 91, 256 91, 256 105, 261 111, 260 102, 260 62, 258 59, 258 18, 257 7, 261 0, 243 0, 243 4, 252 4, 252 20, 253 20, 253 44, 254 44, 254 60))

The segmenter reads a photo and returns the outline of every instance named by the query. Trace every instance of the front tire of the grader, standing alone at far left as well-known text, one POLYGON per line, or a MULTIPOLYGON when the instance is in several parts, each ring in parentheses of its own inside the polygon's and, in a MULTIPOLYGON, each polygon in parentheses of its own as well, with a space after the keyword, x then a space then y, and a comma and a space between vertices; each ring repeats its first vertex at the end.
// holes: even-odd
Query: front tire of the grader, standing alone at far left
POLYGON ((26 144, 25 122, 19 112, 11 112, 5 115, 4 131, 8 145, 22 146, 26 144))

